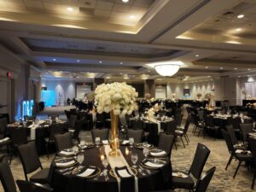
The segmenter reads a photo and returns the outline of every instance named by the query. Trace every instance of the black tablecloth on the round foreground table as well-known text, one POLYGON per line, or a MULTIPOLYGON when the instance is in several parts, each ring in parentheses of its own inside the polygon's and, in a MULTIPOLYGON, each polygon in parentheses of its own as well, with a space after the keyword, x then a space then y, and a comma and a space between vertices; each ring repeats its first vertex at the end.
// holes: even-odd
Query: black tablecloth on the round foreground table
MULTIPOLYGON (((138 154, 137 166, 140 165, 141 161, 145 158, 143 155, 143 149, 139 148, 129 148, 131 152, 138 154)), ((125 155, 125 146, 120 146, 120 151, 122 152, 125 160, 129 166, 132 166, 131 154, 125 155)), ((84 150, 84 162, 82 166, 97 166, 101 170, 104 169, 102 166, 102 161, 99 156, 99 148, 89 148, 84 150)), ((148 158, 150 158, 148 156, 148 158)), ((172 179, 172 166, 169 157, 165 157, 166 164, 158 169, 149 169, 150 173, 145 172, 146 175, 143 176, 140 172, 137 172, 137 183, 139 192, 148 192, 160 189, 170 189, 171 179, 172 179)), ((52 166, 55 165, 54 161, 52 166)), ((108 171, 111 169, 108 165, 108 171)), ((105 177, 99 177, 98 180, 94 180, 94 177, 79 177, 76 175, 65 174, 61 172, 60 168, 53 168, 52 175, 52 187, 55 192, 133 192, 134 184, 126 183, 125 187, 122 187, 119 191, 117 179, 111 176, 108 172, 109 180, 106 181, 105 177)), ((125 178, 126 179, 126 178, 125 178)), ((132 178, 134 181, 134 178, 132 178)))

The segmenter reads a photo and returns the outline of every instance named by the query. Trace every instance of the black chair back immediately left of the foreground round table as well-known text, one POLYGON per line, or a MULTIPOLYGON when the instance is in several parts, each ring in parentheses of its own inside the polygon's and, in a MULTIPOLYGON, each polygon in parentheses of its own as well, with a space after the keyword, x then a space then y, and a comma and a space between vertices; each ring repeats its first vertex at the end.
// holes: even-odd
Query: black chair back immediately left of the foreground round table
MULTIPOLYGON (((26 174, 42 169, 41 162, 38 157, 38 152, 35 142, 26 143, 18 147, 20 160, 23 166, 23 171, 26 174)), ((26 179, 27 180, 27 179, 26 179)))

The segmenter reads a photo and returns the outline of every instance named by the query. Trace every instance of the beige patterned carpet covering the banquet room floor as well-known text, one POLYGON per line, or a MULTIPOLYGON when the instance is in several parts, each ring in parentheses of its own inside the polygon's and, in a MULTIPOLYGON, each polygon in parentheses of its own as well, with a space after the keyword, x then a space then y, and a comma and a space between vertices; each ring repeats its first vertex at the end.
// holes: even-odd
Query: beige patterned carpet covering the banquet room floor
MULTIPOLYGON (((191 129, 190 129, 191 130, 191 129)), ((90 132, 83 131, 80 133, 82 137, 90 141, 91 136, 90 132)), ((211 168, 212 166, 217 166, 217 171, 212 177, 212 182, 210 183, 207 191, 211 192, 249 192, 253 191, 251 189, 251 183, 253 179, 253 173, 247 172, 247 168, 241 166, 239 172, 235 179, 233 179, 233 174, 236 170, 237 161, 233 160, 228 170, 225 171, 224 167, 230 157, 224 140, 213 140, 212 137, 197 137, 191 134, 189 131, 190 143, 189 146, 186 145, 186 148, 183 148, 180 140, 177 140, 177 150, 173 148, 172 150, 172 166, 173 170, 185 171, 189 169, 189 166, 193 160, 195 148, 197 143, 203 143, 211 149, 211 154, 207 160, 207 165, 204 169, 211 168)), ((49 167, 49 162, 53 158, 53 154, 50 155, 49 160, 46 155, 41 156, 40 160, 44 167, 49 167)), ((25 179, 20 160, 15 158, 11 165, 12 172, 15 179, 25 179)), ((256 191, 256 186, 255 189, 256 191)), ((0 185, 0 191, 3 191, 2 185, 0 185)), ((175 191, 186 191, 181 189, 176 189, 175 191)))

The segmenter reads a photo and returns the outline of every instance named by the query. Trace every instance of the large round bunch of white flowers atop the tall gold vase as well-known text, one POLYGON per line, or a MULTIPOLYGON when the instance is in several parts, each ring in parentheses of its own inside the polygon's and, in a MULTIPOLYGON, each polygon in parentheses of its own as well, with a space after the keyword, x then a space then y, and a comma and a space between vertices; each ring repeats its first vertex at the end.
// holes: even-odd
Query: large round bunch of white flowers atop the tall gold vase
POLYGON ((95 104, 97 112, 109 113, 113 110, 113 114, 122 113, 131 114, 137 109, 136 90, 128 84, 114 82, 112 84, 100 84, 95 90, 95 104))

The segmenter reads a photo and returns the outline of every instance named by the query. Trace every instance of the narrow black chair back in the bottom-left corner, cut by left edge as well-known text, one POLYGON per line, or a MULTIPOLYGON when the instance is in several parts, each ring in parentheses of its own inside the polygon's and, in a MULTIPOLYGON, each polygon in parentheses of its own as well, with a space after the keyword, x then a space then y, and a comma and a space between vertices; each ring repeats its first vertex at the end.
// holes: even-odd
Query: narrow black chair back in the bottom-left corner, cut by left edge
POLYGON ((4 192, 17 192, 15 178, 13 177, 8 161, 4 158, 0 161, 0 180, 4 192))

